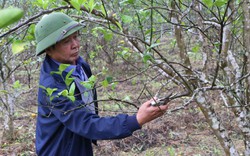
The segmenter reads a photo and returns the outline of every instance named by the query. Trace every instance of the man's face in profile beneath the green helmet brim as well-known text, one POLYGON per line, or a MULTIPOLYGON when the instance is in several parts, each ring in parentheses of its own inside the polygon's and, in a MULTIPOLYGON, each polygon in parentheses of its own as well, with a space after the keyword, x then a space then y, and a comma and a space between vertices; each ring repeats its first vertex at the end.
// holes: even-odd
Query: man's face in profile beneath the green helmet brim
POLYGON ((79 57, 79 48, 79 35, 75 32, 49 48, 47 54, 57 62, 75 65, 79 57))

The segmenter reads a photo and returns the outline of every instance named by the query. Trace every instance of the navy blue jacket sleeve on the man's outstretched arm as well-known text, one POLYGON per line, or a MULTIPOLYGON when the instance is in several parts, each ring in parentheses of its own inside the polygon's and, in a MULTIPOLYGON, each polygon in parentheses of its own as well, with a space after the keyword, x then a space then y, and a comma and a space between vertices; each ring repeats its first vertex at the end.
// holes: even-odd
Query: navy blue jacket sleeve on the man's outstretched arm
MULTIPOLYGON (((119 114, 112 117, 100 117, 91 113, 80 100, 70 101, 64 96, 57 96, 58 90, 53 93, 53 100, 46 96, 51 114, 67 129, 85 138, 92 140, 117 139, 132 135, 140 129, 135 115, 119 114)), ((62 87, 63 88, 63 87, 62 87)), ((42 102, 42 101, 40 101, 42 102)))

